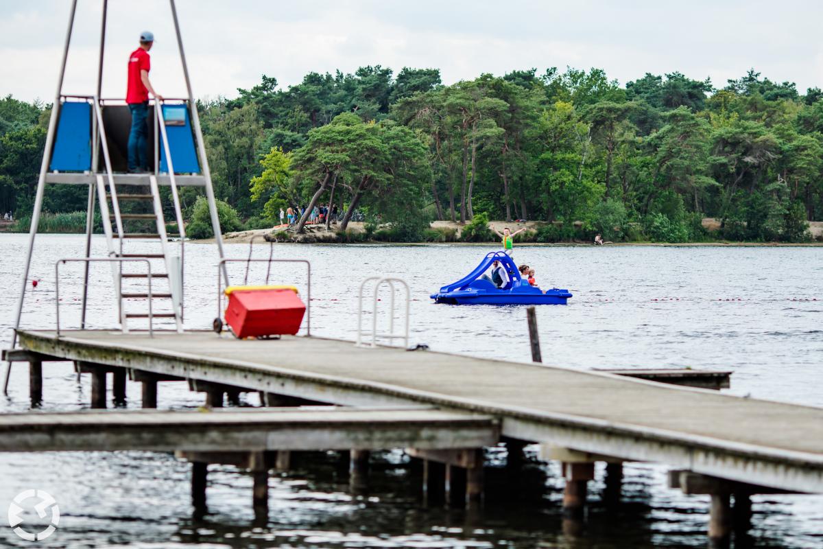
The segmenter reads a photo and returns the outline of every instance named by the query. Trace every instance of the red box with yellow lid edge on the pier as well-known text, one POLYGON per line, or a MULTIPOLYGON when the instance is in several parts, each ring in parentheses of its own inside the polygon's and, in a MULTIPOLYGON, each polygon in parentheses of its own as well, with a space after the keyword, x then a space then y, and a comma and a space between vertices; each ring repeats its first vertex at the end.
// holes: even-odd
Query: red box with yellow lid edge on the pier
POLYGON ((233 286, 226 295, 226 323, 240 339, 295 335, 306 312, 297 289, 288 286, 233 286))

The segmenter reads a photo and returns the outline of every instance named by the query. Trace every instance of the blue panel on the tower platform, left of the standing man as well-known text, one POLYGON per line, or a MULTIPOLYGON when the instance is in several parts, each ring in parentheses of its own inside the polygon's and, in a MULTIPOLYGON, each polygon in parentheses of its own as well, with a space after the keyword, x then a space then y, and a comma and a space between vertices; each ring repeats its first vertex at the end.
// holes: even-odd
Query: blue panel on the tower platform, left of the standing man
POLYGON ((85 101, 67 101, 60 107, 49 170, 91 170, 91 105, 85 101))

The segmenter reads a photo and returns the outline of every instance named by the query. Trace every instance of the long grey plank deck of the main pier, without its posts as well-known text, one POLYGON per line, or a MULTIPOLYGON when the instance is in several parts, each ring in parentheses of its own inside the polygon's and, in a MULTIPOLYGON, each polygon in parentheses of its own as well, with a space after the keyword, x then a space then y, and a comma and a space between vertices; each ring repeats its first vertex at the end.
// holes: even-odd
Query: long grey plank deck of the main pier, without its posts
POLYGON ((64 360, 347 406, 425 403, 499 417, 519 440, 792 491, 823 492, 823 409, 606 373, 319 337, 21 331, 64 360))

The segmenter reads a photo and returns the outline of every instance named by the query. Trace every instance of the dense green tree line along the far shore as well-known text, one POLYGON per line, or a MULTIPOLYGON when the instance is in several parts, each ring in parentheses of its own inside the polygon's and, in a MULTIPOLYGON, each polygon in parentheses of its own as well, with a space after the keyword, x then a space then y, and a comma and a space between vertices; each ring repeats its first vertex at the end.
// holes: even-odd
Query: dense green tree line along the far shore
MULTIPOLYGON (((0 210, 30 207, 48 108, 0 100, 0 210)), ((249 226, 337 205, 342 230, 363 212, 397 240, 483 214, 546 221, 542 240, 703 240, 714 217, 728 240, 798 241, 823 218, 823 91, 754 70, 723 87, 596 68, 444 86, 374 66, 287 89, 263 76, 198 109, 216 196, 249 226)), ((82 209, 79 190, 49 189, 46 207, 82 209)))

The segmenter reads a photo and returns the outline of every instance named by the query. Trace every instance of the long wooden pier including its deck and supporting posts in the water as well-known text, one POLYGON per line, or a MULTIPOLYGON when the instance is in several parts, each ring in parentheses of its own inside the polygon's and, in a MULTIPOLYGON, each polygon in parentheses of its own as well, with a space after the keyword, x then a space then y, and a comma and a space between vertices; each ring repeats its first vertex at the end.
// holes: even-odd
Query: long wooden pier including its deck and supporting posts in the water
MULTIPOLYGON (((647 370, 640 372, 647 379, 633 379, 626 371, 584 372, 432 351, 363 348, 319 337, 239 341, 211 332, 149 337, 89 330, 63 332, 60 337, 50 331, 21 331, 19 337, 23 350, 16 351, 16 358, 30 361, 33 390, 40 390, 42 361, 68 360, 81 371, 97 371, 98 386, 104 384, 98 393, 104 395, 107 372, 115 381, 126 373, 142 380, 144 395, 154 399, 152 405, 158 381, 178 380, 207 393, 212 406, 221 406, 224 395, 259 391, 267 402, 282 406, 414 405, 438 408, 419 412, 432 417, 458 413, 454 426, 472 417, 492 421, 495 436, 508 440, 515 454, 523 444, 540 443, 544 456, 563 463, 570 518, 582 513, 586 484, 597 461, 609 464, 618 494, 621 463, 628 461, 666 464, 675 471, 672 478, 677 482, 672 486, 690 486, 689 493, 695 493, 694 479, 699 478, 700 493, 713 497, 709 534, 720 545, 730 533, 725 525, 732 498, 735 505, 745 506, 752 494, 823 492, 823 409, 649 380, 667 377, 666 372, 647 370)), ((728 372, 706 376, 678 371, 664 381, 728 386, 728 372)), ((450 468, 444 473, 447 480, 449 472, 463 471, 464 477, 467 471, 474 472, 466 489, 471 500, 481 494, 479 452, 490 444, 487 440, 458 450, 406 440, 398 447, 431 463, 425 470, 435 476, 441 474, 435 463, 445 463, 450 468)), ((352 468, 367 465, 367 453, 364 458, 356 454, 356 444, 344 445, 353 451, 352 468)))

